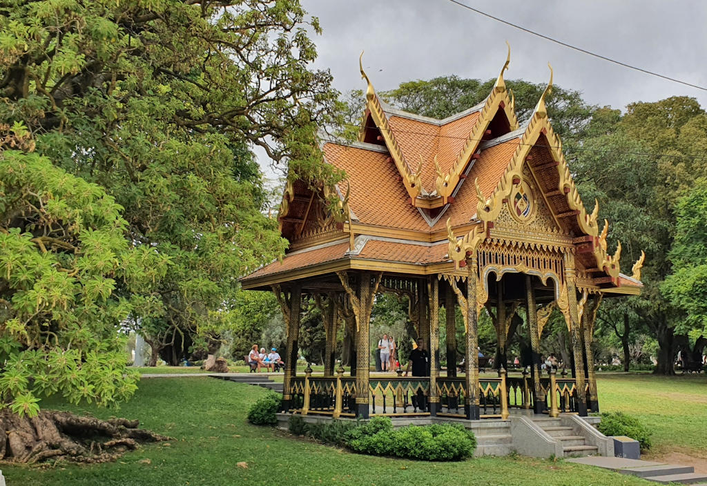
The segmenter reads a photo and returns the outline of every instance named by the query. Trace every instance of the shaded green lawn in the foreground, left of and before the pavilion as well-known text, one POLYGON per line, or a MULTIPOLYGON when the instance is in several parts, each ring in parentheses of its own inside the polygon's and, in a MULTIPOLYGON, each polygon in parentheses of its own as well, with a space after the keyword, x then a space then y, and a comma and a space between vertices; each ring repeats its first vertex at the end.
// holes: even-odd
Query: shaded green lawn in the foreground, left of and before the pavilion
POLYGON ((513 456, 428 463, 350 454, 247 424, 256 386, 206 377, 146 379, 122 409, 46 403, 98 417, 139 417, 175 440, 150 444, 115 463, 28 467, 4 464, 8 485, 648 485, 638 478, 563 461, 513 456), (148 460, 148 461, 147 461, 148 460), (245 461, 247 469, 236 463, 245 461))

